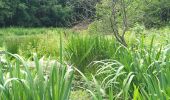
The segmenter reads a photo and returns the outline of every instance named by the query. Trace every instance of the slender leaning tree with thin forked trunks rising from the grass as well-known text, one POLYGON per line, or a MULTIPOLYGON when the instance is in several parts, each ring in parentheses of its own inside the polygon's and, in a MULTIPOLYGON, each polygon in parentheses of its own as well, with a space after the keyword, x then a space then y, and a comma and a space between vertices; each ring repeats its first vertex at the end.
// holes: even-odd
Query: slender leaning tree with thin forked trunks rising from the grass
POLYGON ((116 40, 127 47, 127 43, 125 41, 125 33, 128 28, 128 23, 125 0, 113 0, 110 23, 116 40), (120 16, 121 20, 118 18, 120 16), (122 24, 119 24, 120 22, 122 24), (121 29, 119 29, 120 27, 121 29))

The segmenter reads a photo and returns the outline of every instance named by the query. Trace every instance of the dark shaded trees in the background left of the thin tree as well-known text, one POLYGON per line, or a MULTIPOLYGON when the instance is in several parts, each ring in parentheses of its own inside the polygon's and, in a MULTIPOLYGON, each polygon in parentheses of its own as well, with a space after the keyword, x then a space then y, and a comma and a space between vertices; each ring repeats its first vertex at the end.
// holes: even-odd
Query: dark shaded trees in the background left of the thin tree
POLYGON ((79 5, 79 2, 71 0, 1 0, 0 27, 69 27, 84 20, 84 16, 87 19, 93 16, 96 1, 92 2, 92 6, 88 5, 89 3, 74 6, 74 4, 79 5))

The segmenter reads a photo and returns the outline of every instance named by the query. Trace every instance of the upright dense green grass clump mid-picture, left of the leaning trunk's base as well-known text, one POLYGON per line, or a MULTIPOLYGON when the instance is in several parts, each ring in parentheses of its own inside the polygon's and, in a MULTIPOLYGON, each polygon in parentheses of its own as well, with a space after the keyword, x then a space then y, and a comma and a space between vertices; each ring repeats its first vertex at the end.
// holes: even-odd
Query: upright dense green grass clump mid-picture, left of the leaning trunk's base
POLYGON ((73 35, 66 44, 65 58, 84 72, 92 61, 114 57, 117 46, 112 37, 73 35))

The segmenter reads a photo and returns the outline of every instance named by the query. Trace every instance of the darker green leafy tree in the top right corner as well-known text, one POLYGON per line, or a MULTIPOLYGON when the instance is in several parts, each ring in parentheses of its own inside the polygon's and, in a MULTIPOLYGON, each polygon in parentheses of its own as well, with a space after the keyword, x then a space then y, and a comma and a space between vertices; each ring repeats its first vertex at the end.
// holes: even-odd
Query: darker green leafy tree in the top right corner
POLYGON ((163 27, 170 23, 169 0, 154 0, 147 3, 144 8, 144 25, 150 27, 163 27))

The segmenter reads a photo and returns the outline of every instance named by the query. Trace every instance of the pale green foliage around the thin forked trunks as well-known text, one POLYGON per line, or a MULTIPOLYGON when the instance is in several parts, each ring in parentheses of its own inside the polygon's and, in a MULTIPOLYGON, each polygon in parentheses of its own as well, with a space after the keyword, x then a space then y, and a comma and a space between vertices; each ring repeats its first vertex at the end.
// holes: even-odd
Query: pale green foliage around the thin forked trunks
POLYGON ((118 31, 119 29, 123 30, 124 20, 126 20, 127 27, 133 26, 138 17, 142 16, 141 10, 136 10, 140 7, 139 3, 141 2, 138 0, 101 0, 96 5, 96 20, 92 24, 98 31, 105 34, 113 33, 112 24, 117 24, 118 31), (125 9, 125 13, 123 9, 125 9))

